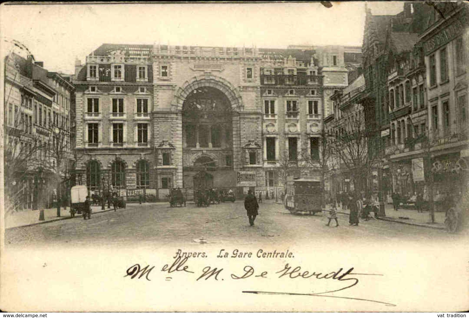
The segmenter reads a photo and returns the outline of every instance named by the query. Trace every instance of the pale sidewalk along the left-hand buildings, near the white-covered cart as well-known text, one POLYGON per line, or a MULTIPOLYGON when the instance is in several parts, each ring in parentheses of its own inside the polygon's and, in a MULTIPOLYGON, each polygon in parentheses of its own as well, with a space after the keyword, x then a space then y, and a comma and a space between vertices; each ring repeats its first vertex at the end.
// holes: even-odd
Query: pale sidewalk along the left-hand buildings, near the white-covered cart
MULTIPOLYGON (((99 213, 99 212, 106 212, 112 209, 108 209, 107 205, 105 210, 101 210, 101 206, 92 205, 91 206, 91 214, 99 213)), ((61 208, 60 210, 60 217, 57 217, 57 208, 52 209, 44 209, 44 221, 39 221, 39 210, 25 210, 25 211, 18 211, 13 213, 8 213, 5 215, 5 228, 12 228, 12 227, 27 227, 34 224, 40 223, 47 223, 53 222, 58 220, 65 220, 70 219, 70 208, 67 207, 67 210, 61 208)), ((80 218, 82 217, 81 214, 75 214, 75 217, 80 218)))

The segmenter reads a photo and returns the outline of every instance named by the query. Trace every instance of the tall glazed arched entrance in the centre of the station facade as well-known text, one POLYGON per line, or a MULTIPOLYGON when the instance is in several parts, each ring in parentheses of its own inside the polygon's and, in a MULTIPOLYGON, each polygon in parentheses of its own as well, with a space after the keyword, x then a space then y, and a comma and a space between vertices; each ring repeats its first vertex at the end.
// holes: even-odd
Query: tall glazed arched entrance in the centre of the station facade
POLYGON ((197 87, 182 103, 182 156, 184 187, 235 186, 232 104, 218 88, 197 87))

